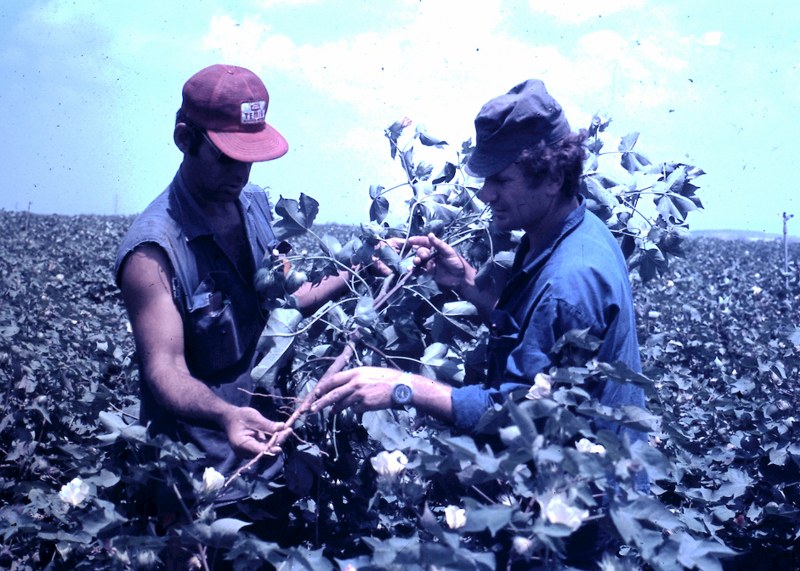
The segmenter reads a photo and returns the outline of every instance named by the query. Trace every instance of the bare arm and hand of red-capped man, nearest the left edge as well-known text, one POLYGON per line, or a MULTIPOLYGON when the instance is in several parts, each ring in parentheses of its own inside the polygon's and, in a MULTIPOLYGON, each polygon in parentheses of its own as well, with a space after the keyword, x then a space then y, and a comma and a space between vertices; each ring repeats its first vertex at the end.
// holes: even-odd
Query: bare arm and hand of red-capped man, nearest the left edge
POLYGON ((134 250, 122 268, 120 286, 142 362, 142 382, 148 383, 161 406, 176 415, 218 424, 237 452, 263 451, 264 434, 281 430, 282 425, 255 409, 229 404, 189 373, 171 275, 166 254, 151 244, 134 250))

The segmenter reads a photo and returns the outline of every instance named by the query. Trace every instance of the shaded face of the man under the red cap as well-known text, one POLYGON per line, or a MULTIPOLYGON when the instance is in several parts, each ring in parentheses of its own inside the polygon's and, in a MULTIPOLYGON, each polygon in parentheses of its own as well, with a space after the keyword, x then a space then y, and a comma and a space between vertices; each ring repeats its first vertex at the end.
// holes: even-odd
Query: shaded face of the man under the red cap
POLYGON ((182 172, 190 192, 200 202, 226 203, 239 199, 252 166, 228 157, 202 134, 197 153, 184 153, 182 172))

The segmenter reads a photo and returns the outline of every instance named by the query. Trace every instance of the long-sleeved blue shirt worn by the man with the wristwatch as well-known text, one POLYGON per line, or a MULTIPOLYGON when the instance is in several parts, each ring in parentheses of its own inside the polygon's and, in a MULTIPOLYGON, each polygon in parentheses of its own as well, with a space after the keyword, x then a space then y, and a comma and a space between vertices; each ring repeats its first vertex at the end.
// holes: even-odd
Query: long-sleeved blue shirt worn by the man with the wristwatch
MULTIPOLYGON (((641 372, 639 344, 625 259, 606 225, 584 202, 563 221, 553 241, 523 265, 527 240, 517 250, 511 278, 492 312, 485 385, 453 390, 457 428, 475 428, 484 412, 508 394, 533 384, 556 365, 552 347, 572 329, 602 340, 597 359, 621 361, 641 372)), ((607 382, 600 402, 644 408, 644 393, 607 382)), ((626 430, 631 438, 641 433, 626 430)))

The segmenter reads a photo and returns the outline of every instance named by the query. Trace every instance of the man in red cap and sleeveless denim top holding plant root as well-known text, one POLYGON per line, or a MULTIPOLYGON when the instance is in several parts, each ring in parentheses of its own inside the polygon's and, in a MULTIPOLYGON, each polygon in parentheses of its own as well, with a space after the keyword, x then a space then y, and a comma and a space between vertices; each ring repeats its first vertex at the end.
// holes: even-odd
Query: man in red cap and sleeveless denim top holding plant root
MULTIPOLYGON (((117 254, 139 358, 140 421, 199 448, 198 479, 208 467, 230 476, 283 427, 272 399, 251 402, 266 323, 254 275, 277 240, 268 197, 248 178, 253 162, 288 150, 266 122, 268 105, 264 83, 247 69, 212 65, 192 76, 173 133, 183 161, 117 254)), ((343 289, 340 277, 303 287, 297 305, 311 311, 343 289)), ((268 456, 256 473, 272 478, 281 466, 280 455, 268 456)))

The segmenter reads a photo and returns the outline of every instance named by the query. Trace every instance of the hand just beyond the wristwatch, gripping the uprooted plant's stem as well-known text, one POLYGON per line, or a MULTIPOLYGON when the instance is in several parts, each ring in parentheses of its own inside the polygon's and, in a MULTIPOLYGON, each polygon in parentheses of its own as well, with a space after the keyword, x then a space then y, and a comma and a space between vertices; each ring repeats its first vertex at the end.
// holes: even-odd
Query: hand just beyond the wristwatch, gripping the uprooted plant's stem
POLYGON ((356 413, 392 407, 392 389, 403 373, 381 367, 358 367, 336 373, 314 389, 313 412, 332 406, 333 414, 346 408, 356 413))

